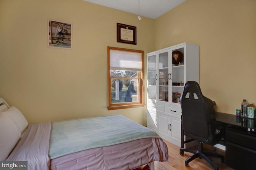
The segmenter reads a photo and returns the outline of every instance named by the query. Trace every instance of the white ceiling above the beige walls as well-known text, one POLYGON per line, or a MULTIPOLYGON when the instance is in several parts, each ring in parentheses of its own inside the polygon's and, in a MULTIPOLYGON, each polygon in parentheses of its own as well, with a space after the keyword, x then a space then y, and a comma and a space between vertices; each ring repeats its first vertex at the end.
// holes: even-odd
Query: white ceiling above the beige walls
POLYGON ((156 19, 185 0, 84 0, 132 14, 156 19), (140 6, 140 8, 139 8, 140 6))

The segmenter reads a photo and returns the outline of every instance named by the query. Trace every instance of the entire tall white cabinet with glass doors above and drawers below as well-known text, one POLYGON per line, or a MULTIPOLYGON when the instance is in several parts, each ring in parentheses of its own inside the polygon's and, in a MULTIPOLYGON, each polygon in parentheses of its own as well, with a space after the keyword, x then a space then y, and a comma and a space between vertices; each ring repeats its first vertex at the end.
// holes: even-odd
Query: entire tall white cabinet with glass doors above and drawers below
POLYGON ((180 145, 180 95, 186 81, 199 83, 199 46, 181 43, 148 53, 147 66, 148 127, 180 145))

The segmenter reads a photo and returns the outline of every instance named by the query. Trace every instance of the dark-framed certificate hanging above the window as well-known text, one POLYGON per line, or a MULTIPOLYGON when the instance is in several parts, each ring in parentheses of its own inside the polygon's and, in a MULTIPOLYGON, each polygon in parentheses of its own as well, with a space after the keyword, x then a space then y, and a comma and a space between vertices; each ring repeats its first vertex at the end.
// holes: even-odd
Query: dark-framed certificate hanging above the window
POLYGON ((116 23, 117 26, 117 42, 137 44, 136 27, 125 24, 116 23))

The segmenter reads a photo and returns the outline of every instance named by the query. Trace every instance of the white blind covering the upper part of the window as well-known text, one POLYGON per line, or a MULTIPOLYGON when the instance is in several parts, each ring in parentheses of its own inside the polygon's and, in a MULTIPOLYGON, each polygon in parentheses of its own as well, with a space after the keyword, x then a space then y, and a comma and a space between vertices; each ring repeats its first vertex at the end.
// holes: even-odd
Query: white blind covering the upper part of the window
POLYGON ((142 71, 142 53, 110 49, 110 69, 142 71))

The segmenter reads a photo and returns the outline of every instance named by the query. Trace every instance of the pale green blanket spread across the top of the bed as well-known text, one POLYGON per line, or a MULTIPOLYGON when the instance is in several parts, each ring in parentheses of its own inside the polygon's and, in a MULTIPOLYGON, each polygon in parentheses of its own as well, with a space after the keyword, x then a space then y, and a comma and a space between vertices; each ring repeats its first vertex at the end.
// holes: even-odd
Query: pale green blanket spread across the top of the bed
POLYGON ((156 132, 122 115, 53 122, 50 159, 74 152, 142 138, 160 138, 156 132))

